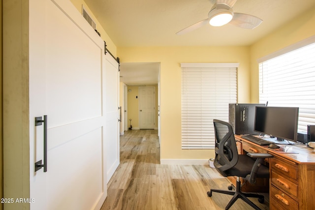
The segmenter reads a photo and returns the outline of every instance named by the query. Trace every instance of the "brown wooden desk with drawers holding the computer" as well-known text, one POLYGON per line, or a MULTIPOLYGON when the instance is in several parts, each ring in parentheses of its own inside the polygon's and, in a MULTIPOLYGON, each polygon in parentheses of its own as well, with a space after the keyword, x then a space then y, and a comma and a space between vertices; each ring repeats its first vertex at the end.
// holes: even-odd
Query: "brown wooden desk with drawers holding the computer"
POLYGON ((259 146, 235 135, 240 152, 271 153, 269 164, 270 210, 315 209, 315 152, 305 145, 280 145, 287 152, 259 146))

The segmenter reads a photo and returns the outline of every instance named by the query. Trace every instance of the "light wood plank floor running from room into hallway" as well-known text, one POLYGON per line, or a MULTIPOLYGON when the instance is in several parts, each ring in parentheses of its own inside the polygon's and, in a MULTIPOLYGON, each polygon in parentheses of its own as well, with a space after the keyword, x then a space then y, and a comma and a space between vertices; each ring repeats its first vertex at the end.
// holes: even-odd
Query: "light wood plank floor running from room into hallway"
MULTIPOLYGON (((209 165, 160 165, 157 130, 128 130, 120 137, 120 165, 101 210, 224 210, 232 198, 210 188, 230 182, 209 165)), ((252 201, 262 210, 268 203, 252 201)), ((252 210, 238 199, 230 210, 252 210)))

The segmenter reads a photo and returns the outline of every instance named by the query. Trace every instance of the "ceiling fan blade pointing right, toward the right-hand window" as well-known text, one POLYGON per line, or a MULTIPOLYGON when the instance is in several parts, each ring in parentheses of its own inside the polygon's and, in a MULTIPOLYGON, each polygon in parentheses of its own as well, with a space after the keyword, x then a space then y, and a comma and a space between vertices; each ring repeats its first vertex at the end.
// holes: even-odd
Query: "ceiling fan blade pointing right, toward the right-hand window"
POLYGON ((262 20, 256 16, 234 12, 233 19, 229 22, 234 26, 243 29, 254 29, 262 23, 262 20))

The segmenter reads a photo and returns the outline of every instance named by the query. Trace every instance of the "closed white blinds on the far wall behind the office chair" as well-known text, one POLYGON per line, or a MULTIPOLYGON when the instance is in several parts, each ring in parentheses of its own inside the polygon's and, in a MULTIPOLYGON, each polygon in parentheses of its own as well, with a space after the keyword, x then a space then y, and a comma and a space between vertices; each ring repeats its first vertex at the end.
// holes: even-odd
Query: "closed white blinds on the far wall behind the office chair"
POLYGON ((213 119, 237 102, 238 63, 181 63, 182 149, 213 149, 213 119))

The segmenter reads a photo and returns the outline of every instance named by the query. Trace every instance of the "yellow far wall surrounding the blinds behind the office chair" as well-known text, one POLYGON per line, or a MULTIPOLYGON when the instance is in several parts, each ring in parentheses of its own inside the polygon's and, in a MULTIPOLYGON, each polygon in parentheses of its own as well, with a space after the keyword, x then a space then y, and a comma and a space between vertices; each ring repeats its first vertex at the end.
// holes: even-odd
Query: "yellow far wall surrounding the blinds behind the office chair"
POLYGON ((161 159, 209 159, 210 157, 214 157, 213 150, 181 149, 180 63, 240 63, 238 69, 238 102, 247 103, 250 102, 250 86, 248 84, 248 81, 250 79, 249 47, 118 47, 117 53, 122 62, 161 63, 161 159))

